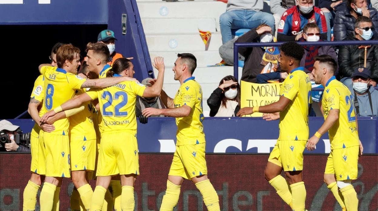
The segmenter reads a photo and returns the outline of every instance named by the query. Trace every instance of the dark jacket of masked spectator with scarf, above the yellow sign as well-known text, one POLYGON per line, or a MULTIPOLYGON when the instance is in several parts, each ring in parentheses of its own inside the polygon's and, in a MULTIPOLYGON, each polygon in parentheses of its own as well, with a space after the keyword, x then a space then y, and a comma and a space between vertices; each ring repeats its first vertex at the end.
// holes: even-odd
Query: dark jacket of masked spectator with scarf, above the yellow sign
MULTIPOLYGON (((240 36, 235 43, 257 43, 260 42, 260 35, 256 29, 251 29, 240 36)), ((265 50, 261 47, 239 48, 239 54, 245 57, 241 80, 256 83, 256 76, 261 73, 264 65, 261 65, 262 56, 265 50)))

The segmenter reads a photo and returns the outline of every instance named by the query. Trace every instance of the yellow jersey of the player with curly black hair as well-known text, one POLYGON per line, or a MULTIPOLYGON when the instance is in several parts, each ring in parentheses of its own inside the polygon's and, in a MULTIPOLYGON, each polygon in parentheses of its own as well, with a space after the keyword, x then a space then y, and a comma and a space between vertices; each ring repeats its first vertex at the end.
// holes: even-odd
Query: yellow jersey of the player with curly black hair
POLYGON ((308 140, 308 107, 311 100, 311 82, 299 67, 293 69, 283 81, 280 95, 291 100, 280 112, 278 140, 308 140))

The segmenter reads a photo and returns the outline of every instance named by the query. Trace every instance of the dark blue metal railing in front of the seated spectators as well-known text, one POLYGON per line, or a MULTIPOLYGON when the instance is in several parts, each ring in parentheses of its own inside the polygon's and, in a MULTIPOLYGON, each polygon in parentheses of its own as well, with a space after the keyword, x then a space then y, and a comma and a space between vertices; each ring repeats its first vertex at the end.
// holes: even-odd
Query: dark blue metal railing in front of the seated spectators
MULTIPOLYGON (((239 79, 238 73, 238 52, 239 48, 248 48, 248 47, 270 47, 270 46, 280 46, 285 42, 271 42, 271 43, 234 43, 234 77, 239 79)), ((299 45, 308 45, 308 46, 324 46, 324 45, 377 45, 378 40, 358 40, 358 41, 321 41, 321 42, 297 42, 299 45)))

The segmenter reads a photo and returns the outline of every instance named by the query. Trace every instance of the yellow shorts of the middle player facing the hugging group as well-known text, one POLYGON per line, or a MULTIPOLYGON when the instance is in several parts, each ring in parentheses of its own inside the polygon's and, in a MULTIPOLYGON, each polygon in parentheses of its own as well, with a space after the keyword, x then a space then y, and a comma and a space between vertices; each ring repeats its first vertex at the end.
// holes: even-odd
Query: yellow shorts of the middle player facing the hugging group
POLYGON ((168 175, 191 179, 208 174, 205 146, 206 143, 176 146, 168 175))

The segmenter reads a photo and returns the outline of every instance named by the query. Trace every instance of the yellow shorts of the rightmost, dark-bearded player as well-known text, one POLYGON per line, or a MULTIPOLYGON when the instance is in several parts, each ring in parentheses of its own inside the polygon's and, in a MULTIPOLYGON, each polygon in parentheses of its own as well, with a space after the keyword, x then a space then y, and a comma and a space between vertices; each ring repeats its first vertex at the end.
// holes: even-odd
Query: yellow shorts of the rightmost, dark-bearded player
POLYGON ((324 174, 335 174, 336 180, 354 180, 358 174, 359 146, 332 149, 325 165, 324 174))

